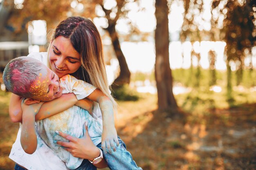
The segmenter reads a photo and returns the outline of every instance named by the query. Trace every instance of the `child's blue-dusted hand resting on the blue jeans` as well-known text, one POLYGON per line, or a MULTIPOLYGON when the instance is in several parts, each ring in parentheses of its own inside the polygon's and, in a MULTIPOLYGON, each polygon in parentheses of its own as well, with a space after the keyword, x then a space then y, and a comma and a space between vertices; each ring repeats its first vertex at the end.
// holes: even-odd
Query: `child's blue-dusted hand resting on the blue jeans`
POLYGON ((116 146, 119 146, 119 141, 117 138, 117 130, 115 129, 115 126, 112 126, 112 128, 107 128, 106 130, 103 129, 102 137, 101 137, 101 147, 105 153, 112 153, 112 149, 115 152, 116 146))

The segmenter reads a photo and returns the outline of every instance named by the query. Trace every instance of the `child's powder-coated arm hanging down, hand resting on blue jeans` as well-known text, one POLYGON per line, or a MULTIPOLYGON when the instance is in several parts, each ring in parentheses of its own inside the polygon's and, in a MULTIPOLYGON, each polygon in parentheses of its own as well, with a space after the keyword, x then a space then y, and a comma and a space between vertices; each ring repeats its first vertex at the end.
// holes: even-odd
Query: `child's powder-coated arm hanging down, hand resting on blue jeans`
POLYGON ((105 153, 111 153, 112 149, 114 151, 116 150, 115 143, 119 146, 117 130, 115 129, 113 104, 111 100, 99 89, 94 90, 88 96, 88 99, 99 103, 103 119, 101 146, 105 153))

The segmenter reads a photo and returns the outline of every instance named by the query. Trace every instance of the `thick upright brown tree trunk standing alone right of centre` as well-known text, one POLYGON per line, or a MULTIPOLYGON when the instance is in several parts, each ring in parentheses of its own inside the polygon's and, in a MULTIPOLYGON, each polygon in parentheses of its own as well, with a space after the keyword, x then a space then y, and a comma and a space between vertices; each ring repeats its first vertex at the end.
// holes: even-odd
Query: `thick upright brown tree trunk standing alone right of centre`
POLYGON ((173 77, 169 63, 168 7, 166 0, 156 0, 155 17, 155 79, 157 84, 158 109, 177 110, 173 95, 173 77))

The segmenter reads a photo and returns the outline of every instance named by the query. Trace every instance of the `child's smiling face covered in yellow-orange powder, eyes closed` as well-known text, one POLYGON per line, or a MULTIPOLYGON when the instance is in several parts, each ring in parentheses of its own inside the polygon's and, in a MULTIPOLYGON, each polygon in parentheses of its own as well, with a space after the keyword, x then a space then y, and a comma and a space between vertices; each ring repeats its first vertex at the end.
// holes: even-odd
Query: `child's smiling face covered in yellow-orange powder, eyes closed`
POLYGON ((61 97, 62 88, 58 76, 44 64, 41 66, 42 73, 39 74, 30 88, 30 92, 33 94, 31 98, 46 102, 61 97))

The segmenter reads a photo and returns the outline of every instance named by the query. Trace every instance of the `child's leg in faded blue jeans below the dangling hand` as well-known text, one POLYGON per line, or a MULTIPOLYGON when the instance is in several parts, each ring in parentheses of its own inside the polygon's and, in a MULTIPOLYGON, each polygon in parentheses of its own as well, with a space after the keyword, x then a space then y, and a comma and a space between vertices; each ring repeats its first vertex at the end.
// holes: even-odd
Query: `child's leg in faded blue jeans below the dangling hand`
MULTIPOLYGON (((103 152, 103 157, 106 159, 110 170, 142 170, 142 168, 136 165, 130 152, 126 150, 124 141, 120 137, 118 137, 118 141, 119 146, 116 147, 117 150, 115 152, 111 154, 103 152)), ((97 145, 97 147, 102 150, 101 144, 97 145)))

